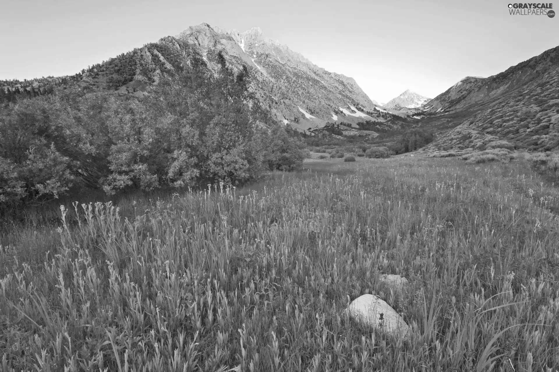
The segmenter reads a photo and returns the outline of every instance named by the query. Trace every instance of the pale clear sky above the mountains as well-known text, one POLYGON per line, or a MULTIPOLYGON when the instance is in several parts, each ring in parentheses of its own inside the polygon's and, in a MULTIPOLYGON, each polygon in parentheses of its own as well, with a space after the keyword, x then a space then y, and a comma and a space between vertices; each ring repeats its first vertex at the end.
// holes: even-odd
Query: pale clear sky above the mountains
POLYGON ((377 102, 406 89, 434 98, 559 45, 559 16, 510 15, 509 1, 2 1, 0 80, 73 75, 206 22, 260 27, 377 102))

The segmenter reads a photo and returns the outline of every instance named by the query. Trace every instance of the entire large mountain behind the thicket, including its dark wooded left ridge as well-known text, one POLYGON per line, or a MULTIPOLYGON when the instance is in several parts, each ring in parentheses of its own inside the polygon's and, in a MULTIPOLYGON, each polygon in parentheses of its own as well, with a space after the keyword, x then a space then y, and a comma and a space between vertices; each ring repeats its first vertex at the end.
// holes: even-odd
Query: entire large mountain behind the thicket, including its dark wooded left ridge
MULTIPOLYGON (((326 71, 301 54, 264 36, 258 27, 245 32, 223 30, 207 23, 188 27, 176 36, 161 38, 126 54, 104 61, 73 76, 37 81, 0 82, 34 96, 49 85, 78 84, 87 89, 110 89, 119 94, 147 94, 149 87, 182 66, 207 64, 219 70, 218 54, 237 73, 244 66, 251 76, 250 91, 262 108, 280 123, 300 131, 344 122, 356 127, 364 120, 382 122, 371 100, 353 78, 326 71), (33 92, 31 92, 33 91, 33 92), (372 117, 365 112, 372 113, 372 117)), ((11 88, 10 88, 11 87, 11 88)))

